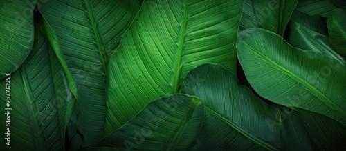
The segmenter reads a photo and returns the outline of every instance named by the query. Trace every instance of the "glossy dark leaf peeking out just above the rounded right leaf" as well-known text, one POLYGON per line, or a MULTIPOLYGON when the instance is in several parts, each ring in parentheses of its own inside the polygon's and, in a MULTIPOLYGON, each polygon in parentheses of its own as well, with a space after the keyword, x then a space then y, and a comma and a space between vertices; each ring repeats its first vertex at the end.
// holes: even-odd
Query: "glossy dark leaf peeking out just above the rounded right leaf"
POLYGON ((340 57, 331 46, 329 46, 329 38, 318 32, 314 32, 300 23, 289 23, 288 43, 293 47, 304 50, 311 50, 325 54, 326 57, 345 64, 343 57, 340 57))

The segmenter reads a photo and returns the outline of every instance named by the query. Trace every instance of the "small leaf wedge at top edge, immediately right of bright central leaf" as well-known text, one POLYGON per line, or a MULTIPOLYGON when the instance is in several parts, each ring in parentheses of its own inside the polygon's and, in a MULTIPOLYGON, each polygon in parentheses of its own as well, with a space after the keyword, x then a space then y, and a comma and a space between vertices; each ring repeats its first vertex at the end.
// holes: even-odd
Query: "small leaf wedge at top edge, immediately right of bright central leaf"
POLYGON ((253 8, 253 0, 245 0, 242 12, 242 19, 240 21, 239 30, 247 28, 260 28, 261 25, 257 21, 255 9, 253 8))

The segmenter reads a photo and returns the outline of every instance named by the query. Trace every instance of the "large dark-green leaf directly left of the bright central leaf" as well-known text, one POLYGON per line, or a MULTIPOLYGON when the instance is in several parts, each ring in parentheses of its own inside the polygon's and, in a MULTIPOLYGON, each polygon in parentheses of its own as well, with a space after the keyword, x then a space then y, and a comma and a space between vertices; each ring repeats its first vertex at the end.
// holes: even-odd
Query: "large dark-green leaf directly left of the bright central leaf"
POLYGON ((58 0, 41 3, 39 8, 77 85, 78 128, 87 145, 102 138, 108 60, 138 9, 136 0, 58 0))

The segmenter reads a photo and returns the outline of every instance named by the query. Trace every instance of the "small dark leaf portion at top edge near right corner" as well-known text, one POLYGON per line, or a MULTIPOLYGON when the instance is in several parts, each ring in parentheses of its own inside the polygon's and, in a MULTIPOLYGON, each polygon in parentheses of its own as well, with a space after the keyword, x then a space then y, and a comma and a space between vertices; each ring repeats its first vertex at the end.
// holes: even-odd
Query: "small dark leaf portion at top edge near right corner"
POLYGON ((331 0, 300 0, 295 8, 300 12, 307 13, 311 16, 329 17, 331 10, 336 6, 331 3, 331 0))

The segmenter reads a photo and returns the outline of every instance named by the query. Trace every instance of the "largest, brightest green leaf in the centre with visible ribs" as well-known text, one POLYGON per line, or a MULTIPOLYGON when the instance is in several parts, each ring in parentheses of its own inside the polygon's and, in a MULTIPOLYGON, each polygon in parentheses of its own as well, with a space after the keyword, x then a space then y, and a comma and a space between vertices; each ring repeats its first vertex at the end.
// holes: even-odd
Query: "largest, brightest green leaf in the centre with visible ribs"
POLYGON ((149 101, 178 92, 195 66, 221 63, 235 72, 243 3, 144 1, 109 61, 105 133, 120 128, 149 101))

